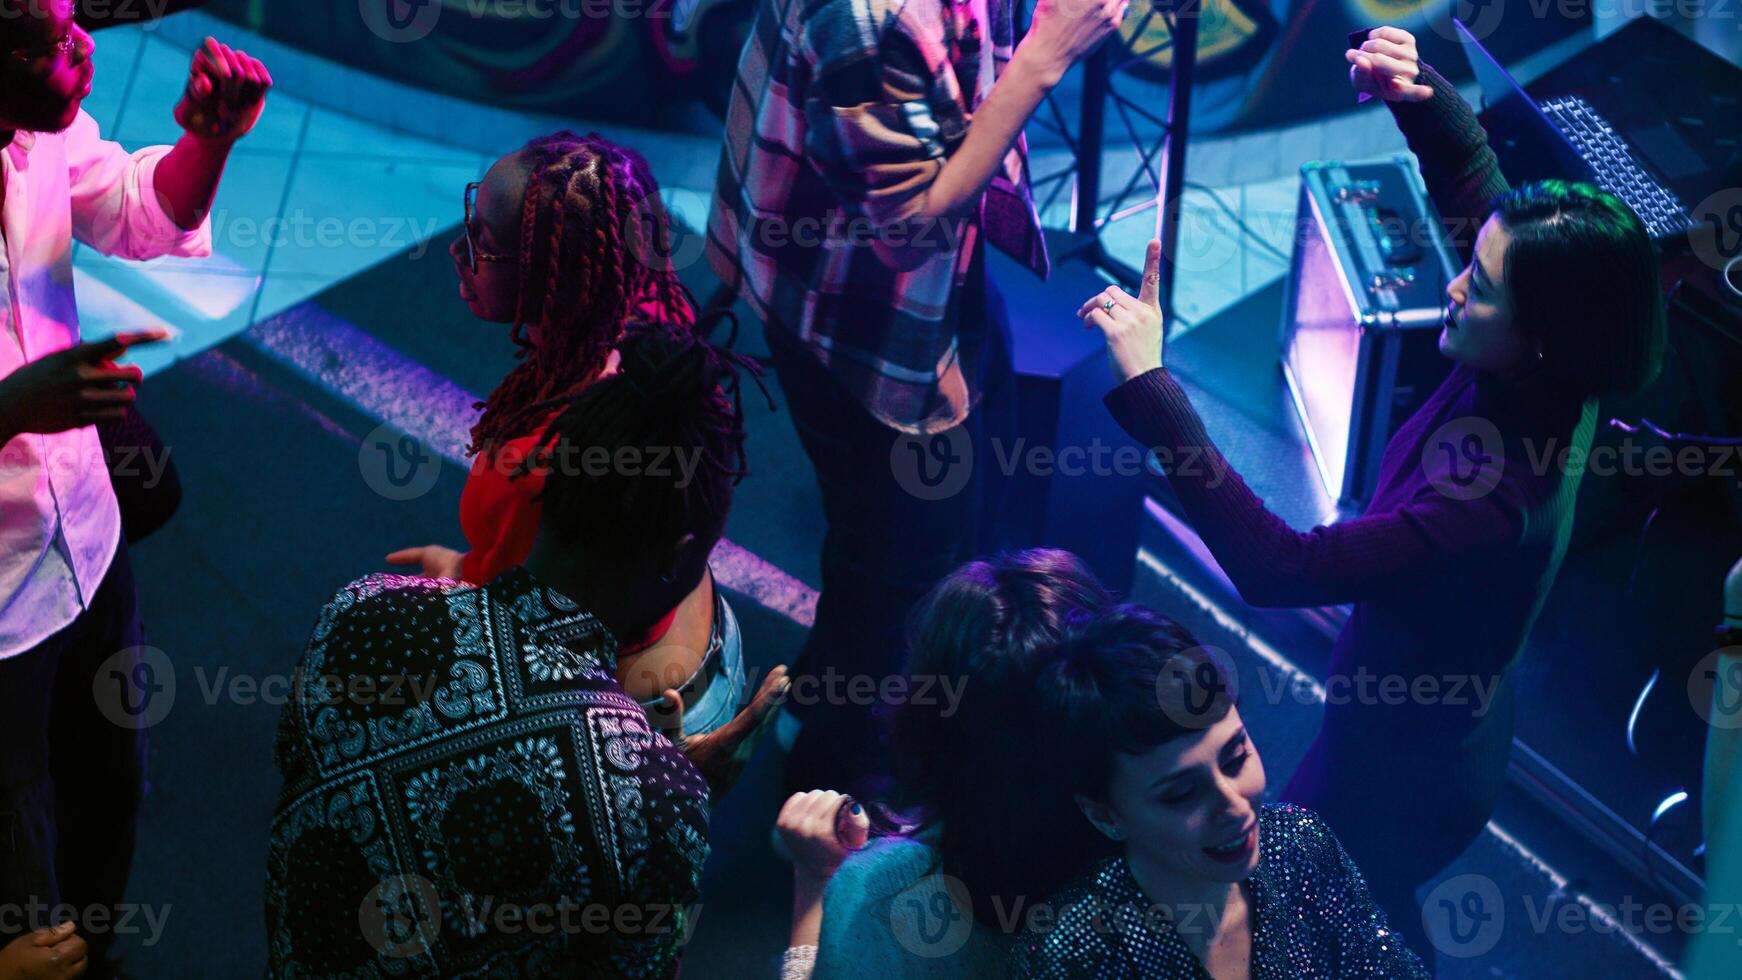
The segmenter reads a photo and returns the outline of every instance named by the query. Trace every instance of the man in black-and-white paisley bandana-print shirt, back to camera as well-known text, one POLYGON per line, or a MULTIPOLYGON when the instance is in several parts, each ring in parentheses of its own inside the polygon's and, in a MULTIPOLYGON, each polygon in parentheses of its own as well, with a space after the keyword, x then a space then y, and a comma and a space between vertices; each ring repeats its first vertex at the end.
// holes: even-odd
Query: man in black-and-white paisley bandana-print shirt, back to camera
POLYGON ((676 327, 620 350, 550 426, 526 564, 371 574, 322 609, 279 726, 270 977, 676 975, 709 785, 618 684, 615 637, 700 581, 744 432, 732 355, 676 327), (577 473, 582 446, 706 463, 577 473))

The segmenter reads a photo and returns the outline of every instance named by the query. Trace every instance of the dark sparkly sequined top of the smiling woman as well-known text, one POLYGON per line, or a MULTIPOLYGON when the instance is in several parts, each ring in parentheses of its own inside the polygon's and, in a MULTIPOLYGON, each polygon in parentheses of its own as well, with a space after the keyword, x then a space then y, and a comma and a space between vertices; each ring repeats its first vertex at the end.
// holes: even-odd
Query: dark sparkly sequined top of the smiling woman
MULTIPOLYGON (((1421 961, 1387 928, 1361 870, 1317 815, 1298 806, 1265 806, 1258 839, 1258 869, 1246 879, 1254 978, 1428 980, 1421 961)), ((1111 858, 1061 889, 1050 905, 1056 924, 1019 938, 1010 952, 1010 977, 1211 980, 1179 936, 1205 924, 1186 910, 1167 914, 1151 905, 1124 858, 1111 858)))

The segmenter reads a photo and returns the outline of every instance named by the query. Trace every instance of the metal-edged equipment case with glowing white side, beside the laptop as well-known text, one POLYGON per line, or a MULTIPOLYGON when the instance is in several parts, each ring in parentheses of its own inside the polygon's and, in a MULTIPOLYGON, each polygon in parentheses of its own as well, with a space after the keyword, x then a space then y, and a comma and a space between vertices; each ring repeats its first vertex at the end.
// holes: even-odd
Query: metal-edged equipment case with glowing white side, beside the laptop
POLYGON ((1282 371, 1326 489, 1359 503, 1451 369, 1439 332, 1460 263, 1406 157, 1305 164, 1294 221, 1282 371))

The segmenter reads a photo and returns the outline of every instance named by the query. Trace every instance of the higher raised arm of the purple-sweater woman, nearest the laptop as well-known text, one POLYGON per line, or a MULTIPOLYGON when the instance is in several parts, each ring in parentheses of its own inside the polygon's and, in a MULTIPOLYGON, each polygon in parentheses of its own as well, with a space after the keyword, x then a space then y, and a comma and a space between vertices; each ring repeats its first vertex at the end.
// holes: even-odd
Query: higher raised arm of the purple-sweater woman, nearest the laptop
POLYGON ((1475 111, 1439 71, 1421 64, 1415 37, 1399 28, 1374 28, 1359 49, 1345 52, 1355 91, 1385 99, 1409 150, 1421 162, 1434 207, 1446 219, 1465 261, 1489 204, 1507 190, 1488 134, 1475 111))

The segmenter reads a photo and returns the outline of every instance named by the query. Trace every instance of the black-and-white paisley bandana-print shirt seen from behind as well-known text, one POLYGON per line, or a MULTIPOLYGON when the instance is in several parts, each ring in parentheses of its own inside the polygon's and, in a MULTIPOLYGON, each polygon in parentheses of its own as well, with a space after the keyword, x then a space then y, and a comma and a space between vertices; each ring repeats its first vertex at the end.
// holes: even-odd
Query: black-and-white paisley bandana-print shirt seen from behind
POLYGON ((707 785, 615 663, 523 567, 340 590, 279 721, 268 975, 674 975, 707 785))

